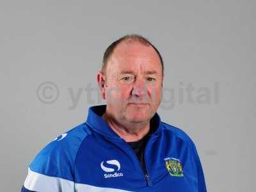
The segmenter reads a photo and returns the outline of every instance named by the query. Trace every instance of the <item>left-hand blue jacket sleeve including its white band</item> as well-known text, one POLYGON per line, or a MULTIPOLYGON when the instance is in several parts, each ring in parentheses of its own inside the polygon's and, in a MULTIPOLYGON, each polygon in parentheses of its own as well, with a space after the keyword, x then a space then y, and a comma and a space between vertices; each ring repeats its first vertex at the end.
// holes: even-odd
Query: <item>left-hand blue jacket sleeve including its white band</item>
POLYGON ((74 163, 77 151, 87 135, 84 125, 65 132, 44 147, 29 164, 22 187, 25 191, 74 191, 74 163))

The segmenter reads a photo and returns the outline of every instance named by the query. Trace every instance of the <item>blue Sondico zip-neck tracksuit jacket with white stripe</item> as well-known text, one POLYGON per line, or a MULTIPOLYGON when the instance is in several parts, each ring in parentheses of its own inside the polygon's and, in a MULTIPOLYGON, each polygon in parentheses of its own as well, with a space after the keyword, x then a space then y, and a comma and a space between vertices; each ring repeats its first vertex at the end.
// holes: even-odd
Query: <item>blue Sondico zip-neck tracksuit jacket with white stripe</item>
POLYGON ((206 191, 200 159, 186 133, 154 115, 145 175, 132 148, 101 118, 105 109, 89 108, 86 122, 44 147, 29 164, 21 191, 206 191))

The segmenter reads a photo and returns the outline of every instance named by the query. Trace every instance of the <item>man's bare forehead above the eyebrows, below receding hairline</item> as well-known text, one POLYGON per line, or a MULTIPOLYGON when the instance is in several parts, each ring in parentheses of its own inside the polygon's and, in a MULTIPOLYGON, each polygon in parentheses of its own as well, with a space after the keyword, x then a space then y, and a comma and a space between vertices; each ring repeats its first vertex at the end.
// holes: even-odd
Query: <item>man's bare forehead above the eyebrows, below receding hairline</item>
POLYGON ((108 65, 111 70, 132 69, 132 68, 154 68, 161 70, 161 61, 151 45, 143 45, 140 42, 121 42, 118 44, 108 65))

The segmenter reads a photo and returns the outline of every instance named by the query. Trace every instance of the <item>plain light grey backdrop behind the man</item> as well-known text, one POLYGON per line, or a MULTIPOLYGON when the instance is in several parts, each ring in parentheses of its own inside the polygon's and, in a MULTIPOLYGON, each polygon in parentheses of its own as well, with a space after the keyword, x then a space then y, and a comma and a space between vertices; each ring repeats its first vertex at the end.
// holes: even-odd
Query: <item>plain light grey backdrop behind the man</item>
POLYGON ((1 1, 1 191, 20 191, 28 164, 39 150, 84 122, 93 105, 88 92, 81 93, 77 107, 70 109, 68 88, 74 93, 88 83, 96 88, 104 49, 127 33, 146 36, 163 55, 164 87, 175 88, 176 96, 172 108, 158 112, 164 122, 180 127, 195 141, 208 191, 254 191, 255 5, 1 1), (52 104, 36 95, 45 81, 59 89, 52 104), (189 83, 195 95, 209 90, 211 100, 191 103, 185 98, 179 104, 178 90, 188 97, 189 83))

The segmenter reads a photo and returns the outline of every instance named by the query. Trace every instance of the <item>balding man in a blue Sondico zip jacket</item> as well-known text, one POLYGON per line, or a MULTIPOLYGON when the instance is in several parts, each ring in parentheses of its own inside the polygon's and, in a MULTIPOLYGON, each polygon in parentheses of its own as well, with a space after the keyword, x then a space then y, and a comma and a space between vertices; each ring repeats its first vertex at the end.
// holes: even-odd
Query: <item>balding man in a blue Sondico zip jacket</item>
POLYGON ((193 141, 161 122, 164 68, 139 35, 109 45, 97 74, 106 106, 47 145, 22 191, 199 191, 204 173, 193 141))

